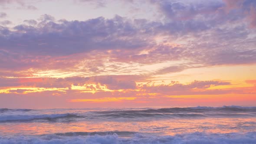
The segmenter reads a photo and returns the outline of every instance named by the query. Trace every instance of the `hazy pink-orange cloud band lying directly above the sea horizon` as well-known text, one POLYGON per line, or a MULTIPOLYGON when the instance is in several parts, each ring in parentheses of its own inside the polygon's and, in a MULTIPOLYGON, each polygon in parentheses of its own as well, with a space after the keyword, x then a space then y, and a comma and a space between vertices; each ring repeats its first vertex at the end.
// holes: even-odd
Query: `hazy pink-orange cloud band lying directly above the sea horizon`
MULTIPOLYGON (((128 92, 96 92, 79 93, 78 91, 44 91, 26 94, 8 93, 1 94, 0 105, 4 108, 94 108, 98 107, 139 107, 148 105, 152 106, 170 106, 170 105, 225 105, 230 102, 232 105, 234 101, 239 104, 244 101, 245 104, 253 105, 255 103, 254 95, 203 95, 203 98, 195 98, 190 95, 190 98, 182 96, 177 97, 161 97, 159 95, 138 95, 136 93, 128 92), (57 95, 59 94, 59 95, 57 95), (241 98, 243 97, 243 98, 241 98), (107 101, 111 98, 112 101, 107 101), (134 99, 136 98, 136 99, 134 99), (84 102, 70 102, 70 100, 85 100, 84 102), (100 104, 93 99, 99 100, 100 104), (126 99, 126 100, 125 100, 126 99), (134 99, 134 100, 129 100, 134 99), (120 101, 118 101, 120 100, 120 101), (7 101, 11 101, 8 103, 7 101), (102 102, 106 101, 106 102, 102 102)), ((223 93, 223 92, 222 92, 223 93)))

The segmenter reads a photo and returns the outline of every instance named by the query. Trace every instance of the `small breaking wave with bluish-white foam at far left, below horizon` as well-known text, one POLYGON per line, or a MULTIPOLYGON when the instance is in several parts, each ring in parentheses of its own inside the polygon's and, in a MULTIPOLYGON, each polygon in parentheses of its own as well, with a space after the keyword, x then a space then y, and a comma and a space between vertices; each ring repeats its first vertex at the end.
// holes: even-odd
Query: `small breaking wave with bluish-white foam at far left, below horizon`
POLYGON ((48 114, 48 115, 0 115, 0 122, 26 122, 33 120, 56 121, 59 118, 79 118, 73 114, 48 114))

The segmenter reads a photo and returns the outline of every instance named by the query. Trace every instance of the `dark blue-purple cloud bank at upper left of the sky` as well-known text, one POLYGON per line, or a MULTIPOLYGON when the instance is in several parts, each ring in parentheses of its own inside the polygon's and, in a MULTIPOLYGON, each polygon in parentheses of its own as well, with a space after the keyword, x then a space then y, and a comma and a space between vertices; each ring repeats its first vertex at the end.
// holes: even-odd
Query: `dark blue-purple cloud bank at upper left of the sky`
POLYGON ((21 48, 35 54, 63 56, 96 49, 132 49, 148 44, 142 39, 131 37, 138 31, 121 17, 115 17, 113 20, 99 17, 84 22, 65 21, 59 24, 52 21, 53 16, 43 15, 39 20, 42 21, 39 23, 41 27, 15 26, 16 32, 6 35, 5 40, 0 38, 3 42, 0 47, 8 46, 14 51, 21 48), (17 40, 10 45, 8 41, 15 37, 17 40), (29 40, 32 37, 33 42, 29 40), (44 45, 38 45, 39 43, 44 45))

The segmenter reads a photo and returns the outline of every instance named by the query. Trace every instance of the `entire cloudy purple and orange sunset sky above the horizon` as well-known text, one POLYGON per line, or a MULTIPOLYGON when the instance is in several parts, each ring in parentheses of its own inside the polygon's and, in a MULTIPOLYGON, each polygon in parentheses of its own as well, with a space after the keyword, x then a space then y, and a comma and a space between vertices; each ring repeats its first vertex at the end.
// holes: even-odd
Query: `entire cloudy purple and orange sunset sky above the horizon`
POLYGON ((255 104, 255 0, 0 0, 1 108, 255 104))

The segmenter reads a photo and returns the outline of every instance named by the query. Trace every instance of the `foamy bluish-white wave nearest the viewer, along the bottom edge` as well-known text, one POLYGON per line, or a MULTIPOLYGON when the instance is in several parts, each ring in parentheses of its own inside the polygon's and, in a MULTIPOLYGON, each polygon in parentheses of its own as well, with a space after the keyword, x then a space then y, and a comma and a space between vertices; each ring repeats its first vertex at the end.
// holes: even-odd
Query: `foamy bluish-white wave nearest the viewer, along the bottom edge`
POLYGON ((255 144, 256 132, 245 134, 213 134, 195 132, 174 136, 133 134, 132 137, 120 137, 118 134, 106 135, 57 135, 41 136, 2 136, 1 144, 255 144))

